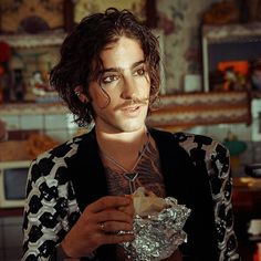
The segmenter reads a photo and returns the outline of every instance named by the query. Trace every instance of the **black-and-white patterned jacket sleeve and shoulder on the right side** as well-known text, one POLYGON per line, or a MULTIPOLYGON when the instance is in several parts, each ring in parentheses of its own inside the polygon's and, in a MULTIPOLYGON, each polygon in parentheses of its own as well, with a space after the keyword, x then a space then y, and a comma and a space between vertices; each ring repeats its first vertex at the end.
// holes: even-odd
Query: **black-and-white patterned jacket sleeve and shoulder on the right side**
POLYGON ((176 134, 176 137, 195 164, 197 160, 205 160, 213 201, 219 261, 240 260, 237 253, 238 243, 233 230, 232 177, 229 150, 221 143, 202 135, 180 133, 176 134), (201 153, 198 153, 199 150, 201 153))

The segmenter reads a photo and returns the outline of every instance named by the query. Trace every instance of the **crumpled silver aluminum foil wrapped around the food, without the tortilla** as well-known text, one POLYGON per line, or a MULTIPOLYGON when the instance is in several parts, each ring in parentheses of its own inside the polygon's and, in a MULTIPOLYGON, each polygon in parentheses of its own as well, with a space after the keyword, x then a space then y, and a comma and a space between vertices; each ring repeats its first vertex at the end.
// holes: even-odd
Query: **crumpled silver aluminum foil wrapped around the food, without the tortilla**
POLYGON ((146 218, 134 218, 135 239, 123 243, 126 254, 134 261, 158 261, 173 254, 179 244, 186 241, 182 227, 190 209, 177 205, 174 198, 166 198, 170 206, 146 218))

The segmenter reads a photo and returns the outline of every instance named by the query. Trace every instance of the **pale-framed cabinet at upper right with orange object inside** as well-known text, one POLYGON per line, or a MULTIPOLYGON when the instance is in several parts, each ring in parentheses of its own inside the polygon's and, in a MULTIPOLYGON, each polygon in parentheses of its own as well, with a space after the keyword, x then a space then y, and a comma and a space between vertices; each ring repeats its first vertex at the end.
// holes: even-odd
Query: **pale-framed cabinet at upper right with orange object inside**
POLYGON ((205 92, 261 92, 261 23, 203 25, 202 66, 205 92))

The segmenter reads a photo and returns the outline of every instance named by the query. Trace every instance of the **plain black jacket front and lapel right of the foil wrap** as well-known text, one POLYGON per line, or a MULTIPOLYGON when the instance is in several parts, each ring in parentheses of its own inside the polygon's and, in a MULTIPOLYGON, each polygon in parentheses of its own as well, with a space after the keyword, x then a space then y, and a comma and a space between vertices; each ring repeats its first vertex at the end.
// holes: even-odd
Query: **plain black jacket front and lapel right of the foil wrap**
POLYGON ((188 243, 180 246, 180 249, 185 254, 195 257, 194 260, 216 260, 213 206, 203 160, 194 164, 174 134, 153 130, 152 136, 158 146, 167 196, 175 197, 179 203, 191 209, 184 228, 188 233, 188 243))

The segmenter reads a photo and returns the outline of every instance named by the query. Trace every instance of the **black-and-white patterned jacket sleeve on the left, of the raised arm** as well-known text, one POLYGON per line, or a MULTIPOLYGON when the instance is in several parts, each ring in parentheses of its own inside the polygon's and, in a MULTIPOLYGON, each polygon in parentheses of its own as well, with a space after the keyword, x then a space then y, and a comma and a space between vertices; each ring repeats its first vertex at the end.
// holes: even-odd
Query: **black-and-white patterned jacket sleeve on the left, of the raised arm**
POLYGON ((50 260, 80 216, 63 158, 52 152, 32 161, 27 184, 22 261, 50 260), (60 171, 63 168, 63 171, 60 171))

